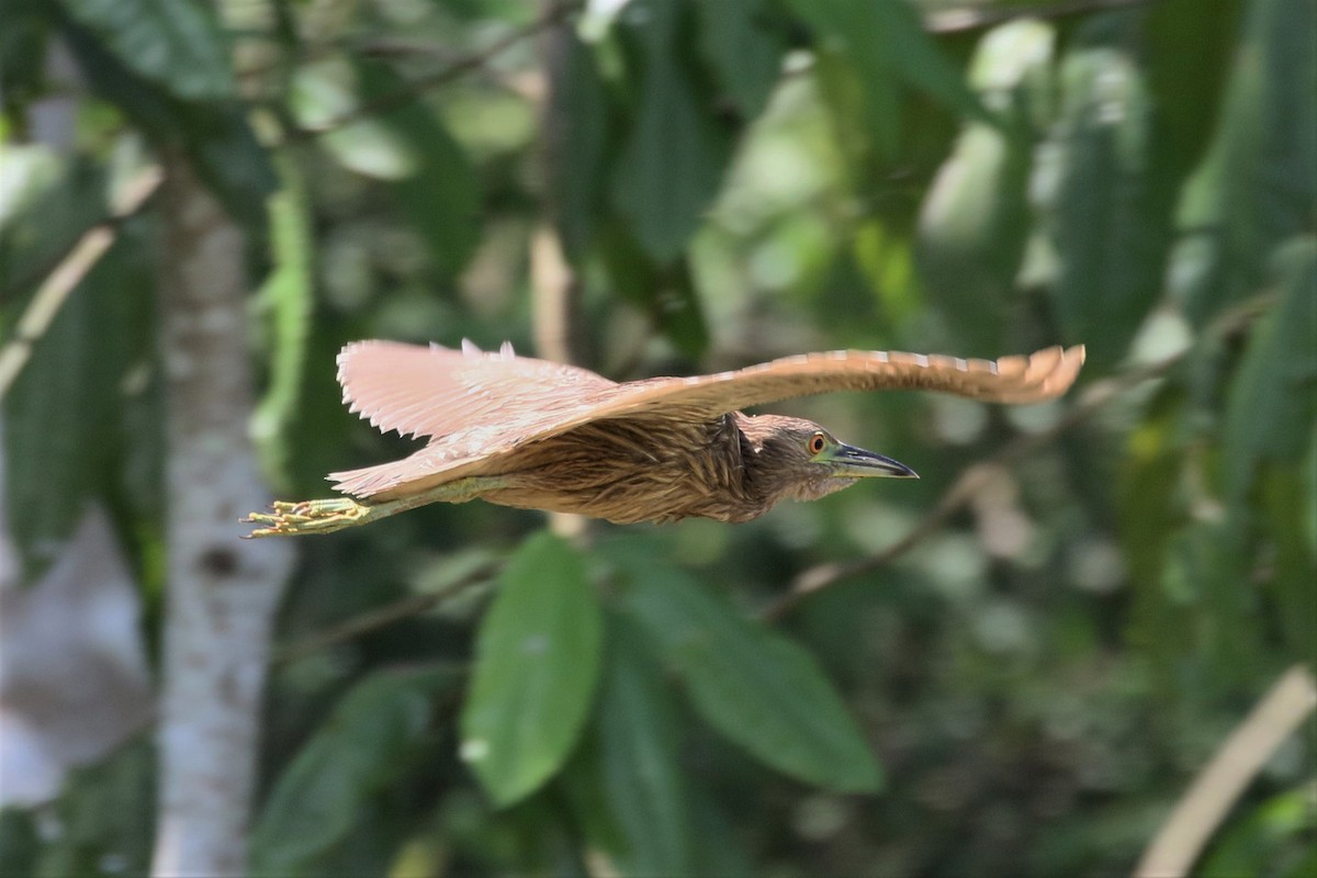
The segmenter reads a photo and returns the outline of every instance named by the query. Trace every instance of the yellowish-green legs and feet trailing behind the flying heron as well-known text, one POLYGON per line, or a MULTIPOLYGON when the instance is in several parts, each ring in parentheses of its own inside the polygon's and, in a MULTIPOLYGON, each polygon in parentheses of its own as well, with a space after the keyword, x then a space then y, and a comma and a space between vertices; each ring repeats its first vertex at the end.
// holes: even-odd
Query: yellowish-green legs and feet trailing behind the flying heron
POLYGON ((399 498, 396 500, 381 500, 379 503, 360 503, 352 498, 331 498, 327 500, 302 500, 288 503, 275 500, 273 512, 253 512, 245 519, 238 519, 242 524, 261 524, 244 538, 253 537, 295 537, 307 533, 333 533, 344 528, 354 528, 360 524, 398 515, 407 509, 415 509, 427 503, 465 503, 479 496, 483 491, 503 487, 504 480, 497 477, 471 477, 458 479, 420 491, 415 495, 399 498))

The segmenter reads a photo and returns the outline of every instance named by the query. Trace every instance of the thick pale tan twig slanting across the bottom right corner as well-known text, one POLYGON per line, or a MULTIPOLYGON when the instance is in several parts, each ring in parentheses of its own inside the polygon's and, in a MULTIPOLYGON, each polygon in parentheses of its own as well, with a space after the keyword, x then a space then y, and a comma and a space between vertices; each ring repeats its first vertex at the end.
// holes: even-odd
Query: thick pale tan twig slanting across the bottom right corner
POLYGON ((1134 870, 1137 878, 1187 875, 1221 820, 1285 738, 1317 708, 1317 683, 1303 665, 1276 681, 1195 779, 1134 870))

